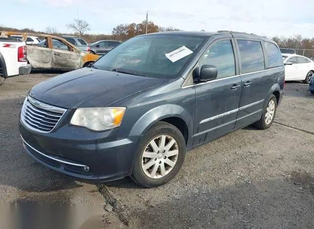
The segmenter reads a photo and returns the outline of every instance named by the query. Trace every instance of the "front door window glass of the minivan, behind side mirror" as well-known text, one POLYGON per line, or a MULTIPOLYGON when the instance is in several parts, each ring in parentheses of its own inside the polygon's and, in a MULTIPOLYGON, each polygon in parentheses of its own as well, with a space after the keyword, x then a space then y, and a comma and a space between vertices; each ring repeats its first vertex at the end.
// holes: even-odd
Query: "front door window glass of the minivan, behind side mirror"
POLYGON ((200 59, 200 68, 204 64, 214 65, 218 70, 217 79, 235 75, 235 54, 231 40, 214 43, 200 59))

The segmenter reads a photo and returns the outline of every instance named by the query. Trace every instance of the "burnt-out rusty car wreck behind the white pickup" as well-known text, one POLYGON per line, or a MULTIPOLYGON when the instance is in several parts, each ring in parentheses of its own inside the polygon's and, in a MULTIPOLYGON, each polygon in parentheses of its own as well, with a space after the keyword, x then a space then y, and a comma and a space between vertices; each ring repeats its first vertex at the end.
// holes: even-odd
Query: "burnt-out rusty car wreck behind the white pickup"
POLYGON ((26 45, 27 61, 32 69, 75 70, 86 67, 98 59, 98 55, 80 51, 67 40, 36 33, 1 32, 1 36, 22 34, 26 40, 28 35, 43 37, 40 45, 26 45))

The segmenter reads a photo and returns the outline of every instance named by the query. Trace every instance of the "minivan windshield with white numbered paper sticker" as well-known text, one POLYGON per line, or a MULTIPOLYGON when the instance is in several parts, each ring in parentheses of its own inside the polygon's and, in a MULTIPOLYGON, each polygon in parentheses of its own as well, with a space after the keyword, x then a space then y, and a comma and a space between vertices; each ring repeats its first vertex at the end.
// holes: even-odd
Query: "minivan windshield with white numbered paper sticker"
POLYGON ((207 37, 191 35, 145 35, 131 38, 97 60, 93 67, 157 78, 173 79, 193 57, 207 37), (166 57, 184 48, 177 59, 166 57), (179 58, 181 55, 181 58, 179 58), (170 60, 172 59, 172 60, 170 60))

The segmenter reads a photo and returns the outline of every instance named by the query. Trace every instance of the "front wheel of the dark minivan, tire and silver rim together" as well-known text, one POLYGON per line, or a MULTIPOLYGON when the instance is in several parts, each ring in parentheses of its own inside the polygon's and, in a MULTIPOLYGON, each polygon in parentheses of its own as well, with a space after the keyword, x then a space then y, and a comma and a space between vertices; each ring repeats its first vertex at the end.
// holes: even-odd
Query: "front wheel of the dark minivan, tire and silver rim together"
POLYGON ((139 142, 131 178, 146 188, 163 185, 177 175, 184 158, 185 140, 180 130, 167 122, 158 122, 139 142))

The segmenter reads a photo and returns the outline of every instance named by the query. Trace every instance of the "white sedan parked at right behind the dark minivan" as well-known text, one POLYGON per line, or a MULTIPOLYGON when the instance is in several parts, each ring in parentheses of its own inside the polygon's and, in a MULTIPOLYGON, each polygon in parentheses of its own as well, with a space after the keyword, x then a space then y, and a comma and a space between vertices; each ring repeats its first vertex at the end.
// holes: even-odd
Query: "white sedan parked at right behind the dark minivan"
POLYGON ((314 74, 314 61, 296 54, 282 54, 285 64, 286 81, 302 80, 309 84, 314 74))

